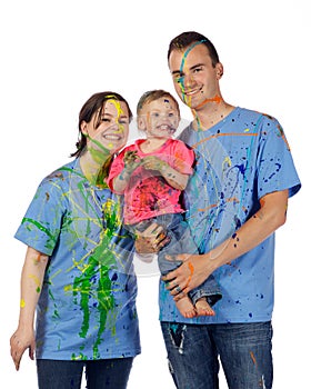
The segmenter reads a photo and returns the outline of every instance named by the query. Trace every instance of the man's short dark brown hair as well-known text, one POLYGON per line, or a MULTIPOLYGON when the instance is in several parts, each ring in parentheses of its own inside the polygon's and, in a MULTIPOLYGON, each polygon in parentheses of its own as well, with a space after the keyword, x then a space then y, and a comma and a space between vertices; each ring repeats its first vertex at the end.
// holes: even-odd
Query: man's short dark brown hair
POLYGON ((191 47, 193 43, 202 43, 207 47, 213 67, 219 63, 219 56, 213 43, 207 37, 195 31, 182 32, 171 40, 168 51, 168 60, 170 59, 170 54, 173 50, 184 50, 191 47))

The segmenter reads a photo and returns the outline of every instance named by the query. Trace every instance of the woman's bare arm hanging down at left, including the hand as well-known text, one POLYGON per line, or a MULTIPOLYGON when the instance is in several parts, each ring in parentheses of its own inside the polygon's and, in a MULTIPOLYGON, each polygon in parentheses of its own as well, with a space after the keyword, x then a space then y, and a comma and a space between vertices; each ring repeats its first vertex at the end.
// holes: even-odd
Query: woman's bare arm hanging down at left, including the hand
POLYGON ((48 256, 28 247, 21 272, 19 325, 10 339, 11 357, 17 370, 19 370, 20 360, 26 349, 29 349, 29 357, 34 358, 34 312, 48 260, 48 256))

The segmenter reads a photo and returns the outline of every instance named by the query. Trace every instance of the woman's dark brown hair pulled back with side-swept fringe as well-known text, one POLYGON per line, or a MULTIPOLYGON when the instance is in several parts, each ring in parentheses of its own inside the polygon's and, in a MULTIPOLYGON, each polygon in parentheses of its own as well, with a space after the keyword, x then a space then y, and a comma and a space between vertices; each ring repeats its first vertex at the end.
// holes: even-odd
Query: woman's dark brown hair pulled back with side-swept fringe
POLYGON ((87 137, 81 131, 81 124, 83 121, 89 123, 92 120, 92 117, 97 114, 97 119, 94 121, 94 128, 97 129, 100 126, 100 118, 102 116, 102 110, 104 109, 104 102, 108 100, 117 100, 126 103, 129 111, 130 121, 133 118, 132 111, 128 101, 119 93, 116 92, 99 92, 94 93, 89 98, 88 101, 84 102, 83 107, 79 113, 79 139, 76 143, 77 150, 70 154, 70 157, 80 157, 83 149, 87 146, 87 137))

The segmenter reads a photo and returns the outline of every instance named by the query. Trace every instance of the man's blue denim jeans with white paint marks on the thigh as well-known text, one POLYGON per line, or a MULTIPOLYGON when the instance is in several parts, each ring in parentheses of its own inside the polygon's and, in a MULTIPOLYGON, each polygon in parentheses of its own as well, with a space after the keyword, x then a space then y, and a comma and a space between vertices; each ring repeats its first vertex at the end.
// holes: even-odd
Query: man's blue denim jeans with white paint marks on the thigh
POLYGON ((218 389, 219 359, 229 389, 271 389, 272 325, 161 322, 178 389, 218 389))

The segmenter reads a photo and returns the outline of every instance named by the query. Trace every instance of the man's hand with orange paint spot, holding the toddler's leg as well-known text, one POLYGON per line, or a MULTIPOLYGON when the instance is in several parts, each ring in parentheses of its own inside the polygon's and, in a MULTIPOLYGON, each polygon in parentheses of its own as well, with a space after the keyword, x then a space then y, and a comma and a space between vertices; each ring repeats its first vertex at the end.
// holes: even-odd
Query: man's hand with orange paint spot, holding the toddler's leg
POLYGON ((162 277, 175 301, 199 287, 215 269, 205 255, 182 253, 174 257, 167 256, 167 259, 183 262, 179 268, 162 277))

